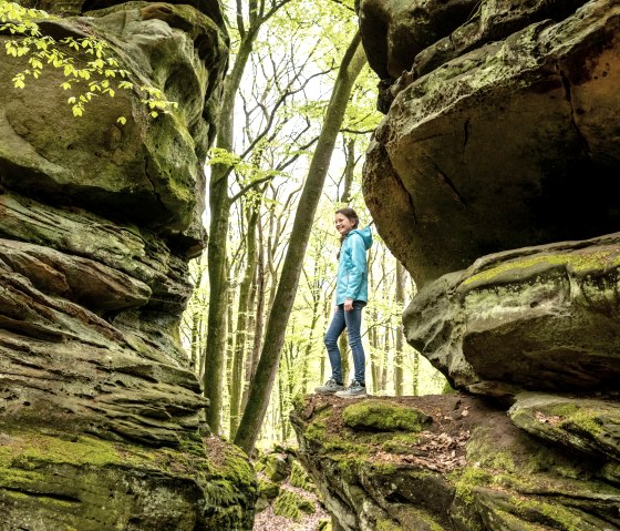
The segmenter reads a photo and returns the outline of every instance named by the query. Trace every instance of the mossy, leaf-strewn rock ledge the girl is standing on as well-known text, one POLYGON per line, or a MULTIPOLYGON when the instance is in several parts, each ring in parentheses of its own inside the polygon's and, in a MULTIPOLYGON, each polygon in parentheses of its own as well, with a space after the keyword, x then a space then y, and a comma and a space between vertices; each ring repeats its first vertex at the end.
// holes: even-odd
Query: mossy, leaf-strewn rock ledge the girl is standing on
MULTIPOLYGON (((617 461, 599 460, 593 445, 583 446, 579 459, 557 446, 602 416, 579 415, 580 406, 566 401, 524 397, 512 416, 527 430, 466 395, 356 404, 310 397, 291 419, 300 458, 337 530, 620 529, 617 461), (402 419, 403 411, 423 420, 385 422, 402 419), (547 439, 554 443, 530 436, 551 426, 556 433, 547 439)), ((608 417, 612 430, 613 422, 608 417)))

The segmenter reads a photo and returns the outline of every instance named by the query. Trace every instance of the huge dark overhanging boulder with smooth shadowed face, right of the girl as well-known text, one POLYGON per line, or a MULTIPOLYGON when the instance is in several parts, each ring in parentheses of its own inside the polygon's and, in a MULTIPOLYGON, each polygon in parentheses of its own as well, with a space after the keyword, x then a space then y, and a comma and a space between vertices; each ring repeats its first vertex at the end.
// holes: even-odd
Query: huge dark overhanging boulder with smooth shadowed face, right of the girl
POLYGON ((619 9, 593 0, 396 82, 364 196, 418 285, 493 252, 617 231, 619 9))

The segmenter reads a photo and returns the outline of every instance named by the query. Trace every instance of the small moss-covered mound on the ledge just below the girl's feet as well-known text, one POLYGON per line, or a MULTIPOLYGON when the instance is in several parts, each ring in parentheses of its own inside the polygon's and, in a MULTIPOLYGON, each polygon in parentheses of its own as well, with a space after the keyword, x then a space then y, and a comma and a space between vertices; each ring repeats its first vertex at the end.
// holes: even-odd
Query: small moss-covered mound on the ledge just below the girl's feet
POLYGON ((344 423, 354 430, 422 431, 431 417, 422 411, 386 400, 363 400, 347 407, 344 423))

